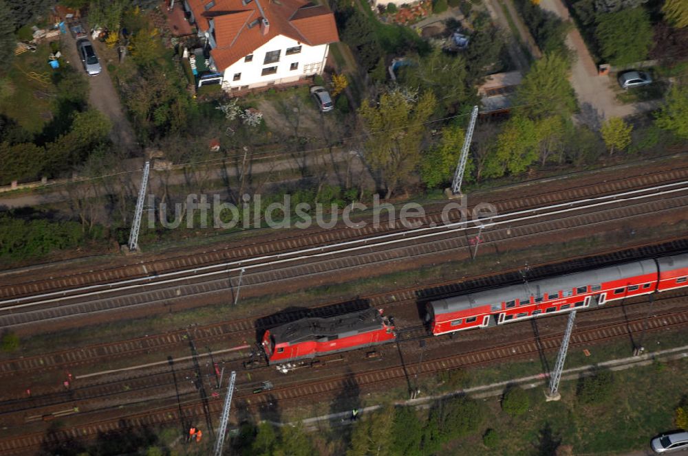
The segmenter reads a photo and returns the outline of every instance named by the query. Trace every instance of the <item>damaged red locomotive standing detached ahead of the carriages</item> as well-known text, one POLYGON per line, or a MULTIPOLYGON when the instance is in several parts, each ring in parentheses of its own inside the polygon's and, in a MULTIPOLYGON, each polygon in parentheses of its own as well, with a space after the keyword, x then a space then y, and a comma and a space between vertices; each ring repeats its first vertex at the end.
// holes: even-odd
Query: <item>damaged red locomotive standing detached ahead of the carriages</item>
POLYGON ((305 318, 265 332, 263 350, 277 364, 394 341, 394 326, 382 310, 366 309, 328 318, 305 318))

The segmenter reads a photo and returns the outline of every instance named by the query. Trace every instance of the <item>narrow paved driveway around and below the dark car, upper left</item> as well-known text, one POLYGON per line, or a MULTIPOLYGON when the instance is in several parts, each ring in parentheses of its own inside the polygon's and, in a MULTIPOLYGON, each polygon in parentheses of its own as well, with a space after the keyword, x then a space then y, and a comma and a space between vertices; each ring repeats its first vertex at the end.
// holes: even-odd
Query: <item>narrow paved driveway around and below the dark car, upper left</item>
MULTIPOLYGON (((66 52, 67 61, 79 71, 83 71, 81 60, 76 50, 76 41, 71 34, 67 33, 63 36, 63 50, 66 52)), ((96 46, 96 54, 98 52, 96 46)), ((100 61, 100 66, 103 67, 103 72, 98 76, 88 78, 89 86, 89 104, 105 114, 112 122, 112 130, 110 130, 110 139, 116 146, 120 146, 127 150, 131 155, 138 155, 136 152, 140 150, 136 144, 136 135, 133 133, 133 128, 127 119, 125 112, 122 109, 120 98, 112 85, 109 73, 107 73, 107 62, 100 61)))

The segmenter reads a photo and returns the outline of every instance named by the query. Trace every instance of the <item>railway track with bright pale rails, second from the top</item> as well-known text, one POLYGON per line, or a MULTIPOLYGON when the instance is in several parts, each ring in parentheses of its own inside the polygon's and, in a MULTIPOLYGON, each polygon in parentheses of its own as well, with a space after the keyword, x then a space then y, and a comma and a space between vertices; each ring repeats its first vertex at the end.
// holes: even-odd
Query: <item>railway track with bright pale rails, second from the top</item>
MULTIPOLYGON (((41 295, 0 301, 0 326, 17 327, 51 320, 171 303, 182 299, 208 299, 229 295, 236 273, 243 273, 242 289, 249 291, 270 284, 341 274, 361 267, 395 262, 423 262, 443 253, 474 249, 473 243, 490 246, 542 239, 572 229, 591 229, 621 220, 662 216, 685 210, 688 181, 632 190, 537 209, 497 214, 489 220, 409 229, 373 238, 312 247, 301 251, 262 255, 259 258, 226 262, 155 277, 128 279, 118 284, 71 288, 41 295), (472 243, 473 242, 473 243, 472 243)), ((439 220, 439 215, 436 214, 439 220)), ((432 225, 432 223, 431 223, 432 225)), ((475 247, 477 248, 477 247, 475 247)), ((422 264, 422 263, 419 263, 422 264)))

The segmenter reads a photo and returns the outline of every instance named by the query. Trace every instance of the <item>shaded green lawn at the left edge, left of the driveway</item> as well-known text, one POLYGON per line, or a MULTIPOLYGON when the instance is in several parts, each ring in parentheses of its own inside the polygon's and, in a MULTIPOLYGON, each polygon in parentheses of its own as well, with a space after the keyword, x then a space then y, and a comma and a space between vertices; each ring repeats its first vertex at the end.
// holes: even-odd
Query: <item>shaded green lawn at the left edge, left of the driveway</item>
MULTIPOLYGON (((19 125, 39 134, 50 122, 50 114, 56 109, 52 83, 53 69, 47 64, 50 45, 39 45, 36 52, 24 52, 14 58, 8 71, 10 94, 0 103, 0 113, 16 119, 19 125), (41 78, 41 80, 36 79, 41 78)), ((62 65, 65 63, 62 61, 62 65)))

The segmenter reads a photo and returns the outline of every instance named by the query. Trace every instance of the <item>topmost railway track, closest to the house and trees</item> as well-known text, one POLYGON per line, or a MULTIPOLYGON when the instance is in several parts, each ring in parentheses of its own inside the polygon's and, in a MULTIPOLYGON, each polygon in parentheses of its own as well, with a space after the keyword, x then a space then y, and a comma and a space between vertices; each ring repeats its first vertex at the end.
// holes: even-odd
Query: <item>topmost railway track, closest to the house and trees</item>
MULTIPOLYGON (((512 212, 533 207, 541 207, 577 201, 592 196, 605 196, 608 194, 634 190, 643 187, 652 187, 665 183, 673 183, 688 178, 688 166, 676 164, 670 170, 663 170, 653 174, 624 175, 615 179, 608 179, 601 183, 576 186, 575 183, 566 191, 559 192, 535 192, 521 198, 501 198, 489 200, 480 193, 471 195, 471 206, 477 203, 492 203, 499 213, 512 212)), ((499 190, 499 189, 496 189, 499 190)), ((428 227, 431 223, 438 223, 438 214, 442 211, 442 205, 434 205, 427 209, 427 218, 418 220, 422 226, 428 227)), ((117 267, 100 267, 90 271, 69 273, 60 271, 57 277, 32 277, 29 280, 17 281, 18 283, 0 286, 0 300, 8 300, 15 297, 40 295, 50 291, 69 290, 70 288, 84 287, 92 284, 109 284, 120 282, 128 278, 154 277, 162 273, 178 270, 189 270, 200 266, 212 266, 213 264, 226 263, 230 260, 257 258, 261 255, 286 253, 297 249, 322 246, 342 242, 343 240, 355 240, 380 233, 396 233, 402 227, 389 227, 387 223, 378 227, 368 224, 363 228, 335 228, 327 231, 306 230, 297 231, 270 231, 270 241, 260 242, 248 240, 244 242, 232 242, 222 249, 213 249, 197 255, 183 255, 158 260, 144 260, 136 264, 117 267)), ((9 278, 9 277, 8 277, 9 278)), ((15 280, 16 281, 16 280, 15 280)))

